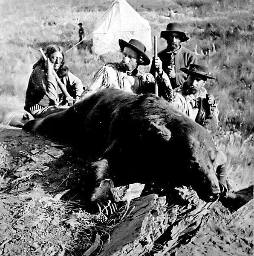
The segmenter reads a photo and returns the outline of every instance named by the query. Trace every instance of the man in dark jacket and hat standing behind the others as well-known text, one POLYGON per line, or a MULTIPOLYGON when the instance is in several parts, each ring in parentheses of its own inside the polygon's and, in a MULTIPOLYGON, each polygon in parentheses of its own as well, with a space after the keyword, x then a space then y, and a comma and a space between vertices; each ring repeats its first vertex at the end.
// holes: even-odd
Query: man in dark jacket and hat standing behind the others
MULTIPOLYGON (((189 38, 183 31, 181 23, 172 22, 167 24, 165 31, 161 32, 161 37, 167 40, 167 48, 158 53, 162 61, 162 69, 170 78, 172 88, 177 88, 183 84, 186 74, 180 71, 180 68, 188 68, 190 64, 197 63, 197 56, 191 50, 183 47, 182 42, 189 38)), ((154 66, 152 65, 150 73, 154 75, 154 66)))

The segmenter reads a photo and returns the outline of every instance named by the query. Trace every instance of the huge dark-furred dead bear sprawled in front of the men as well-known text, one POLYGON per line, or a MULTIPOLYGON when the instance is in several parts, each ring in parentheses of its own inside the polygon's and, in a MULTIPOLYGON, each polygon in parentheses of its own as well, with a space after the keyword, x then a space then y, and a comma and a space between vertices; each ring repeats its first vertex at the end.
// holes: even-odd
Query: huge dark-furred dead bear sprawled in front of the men
POLYGON ((190 185, 202 200, 220 194, 216 147, 205 128, 154 94, 104 89, 23 129, 77 148, 94 161, 94 202, 113 201, 113 184, 190 185))

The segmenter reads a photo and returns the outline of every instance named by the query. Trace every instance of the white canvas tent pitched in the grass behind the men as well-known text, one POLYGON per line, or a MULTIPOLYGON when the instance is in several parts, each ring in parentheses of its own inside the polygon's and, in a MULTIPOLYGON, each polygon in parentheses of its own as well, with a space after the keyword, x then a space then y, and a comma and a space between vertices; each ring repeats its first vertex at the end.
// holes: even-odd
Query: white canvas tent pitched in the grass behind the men
POLYGON ((93 53, 118 51, 118 39, 141 41, 147 51, 152 48, 151 27, 126 0, 115 0, 92 31, 93 53))

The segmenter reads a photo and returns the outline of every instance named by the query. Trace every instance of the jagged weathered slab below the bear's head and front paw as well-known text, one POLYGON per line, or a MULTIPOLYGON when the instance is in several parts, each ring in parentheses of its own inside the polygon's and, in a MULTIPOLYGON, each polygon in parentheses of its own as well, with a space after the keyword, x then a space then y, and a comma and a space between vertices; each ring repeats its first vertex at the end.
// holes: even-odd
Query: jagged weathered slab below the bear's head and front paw
POLYGON ((200 200, 191 188, 177 190, 180 198, 168 199, 168 203, 156 194, 133 200, 133 211, 110 233, 110 242, 99 256, 151 256, 159 251, 166 255, 193 241, 214 203, 200 200))

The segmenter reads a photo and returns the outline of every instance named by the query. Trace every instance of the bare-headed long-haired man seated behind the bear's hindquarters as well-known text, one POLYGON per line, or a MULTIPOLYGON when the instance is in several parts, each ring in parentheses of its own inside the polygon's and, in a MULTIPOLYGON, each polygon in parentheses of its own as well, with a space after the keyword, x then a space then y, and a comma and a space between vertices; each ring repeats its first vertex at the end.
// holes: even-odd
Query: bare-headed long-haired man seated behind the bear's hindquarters
POLYGON ((64 63, 63 47, 52 44, 46 47, 45 55, 33 66, 26 90, 25 109, 34 118, 40 118, 66 108, 66 100, 58 87, 53 70, 58 74, 74 103, 83 91, 83 84, 73 75, 64 63), (62 107, 59 105, 63 105, 62 107))

